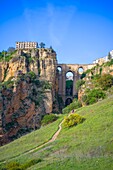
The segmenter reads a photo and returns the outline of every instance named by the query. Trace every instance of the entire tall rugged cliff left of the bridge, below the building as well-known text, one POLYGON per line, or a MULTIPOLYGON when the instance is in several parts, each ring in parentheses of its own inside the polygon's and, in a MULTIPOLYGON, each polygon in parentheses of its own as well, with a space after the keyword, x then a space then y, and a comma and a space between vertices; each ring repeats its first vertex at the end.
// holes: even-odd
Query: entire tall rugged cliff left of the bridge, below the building
POLYGON ((41 118, 53 111, 56 64, 51 49, 17 51, 0 63, 1 145, 39 128, 41 118))

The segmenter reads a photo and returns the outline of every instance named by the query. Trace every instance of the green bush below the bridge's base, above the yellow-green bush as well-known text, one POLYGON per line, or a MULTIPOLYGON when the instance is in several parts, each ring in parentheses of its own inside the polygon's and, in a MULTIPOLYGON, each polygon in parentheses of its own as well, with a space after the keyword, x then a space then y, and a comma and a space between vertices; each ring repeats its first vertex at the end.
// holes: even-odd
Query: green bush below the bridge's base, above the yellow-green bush
POLYGON ((74 100, 70 105, 66 106, 62 112, 64 114, 68 114, 71 110, 78 109, 79 107, 82 107, 82 104, 78 100, 74 100))

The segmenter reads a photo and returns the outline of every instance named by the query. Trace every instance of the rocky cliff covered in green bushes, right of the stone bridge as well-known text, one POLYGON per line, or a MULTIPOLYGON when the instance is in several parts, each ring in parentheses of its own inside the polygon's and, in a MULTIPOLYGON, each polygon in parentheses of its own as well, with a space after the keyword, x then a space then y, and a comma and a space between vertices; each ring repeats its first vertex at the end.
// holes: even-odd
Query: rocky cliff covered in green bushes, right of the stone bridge
POLYGON ((85 71, 76 83, 83 105, 93 104, 110 95, 113 86, 113 59, 85 71))

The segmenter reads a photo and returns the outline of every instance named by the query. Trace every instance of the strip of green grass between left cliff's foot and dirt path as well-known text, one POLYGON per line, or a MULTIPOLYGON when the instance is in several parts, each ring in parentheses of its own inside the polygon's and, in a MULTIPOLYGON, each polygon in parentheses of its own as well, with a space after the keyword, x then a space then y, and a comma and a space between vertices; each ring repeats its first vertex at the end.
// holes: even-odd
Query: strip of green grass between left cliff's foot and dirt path
POLYGON ((47 142, 57 131, 61 119, 62 116, 54 123, 44 126, 39 130, 33 131, 30 134, 22 136, 18 140, 0 147, 0 162, 25 153, 26 151, 47 142))

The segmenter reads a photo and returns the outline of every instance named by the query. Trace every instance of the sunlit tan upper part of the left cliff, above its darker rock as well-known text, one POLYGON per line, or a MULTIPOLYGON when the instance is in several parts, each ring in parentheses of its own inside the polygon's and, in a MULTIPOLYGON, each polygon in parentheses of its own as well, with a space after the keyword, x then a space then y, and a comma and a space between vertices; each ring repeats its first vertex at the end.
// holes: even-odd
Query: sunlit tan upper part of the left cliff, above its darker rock
POLYGON ((52 49, 19 50, 12 55, 9 62, 0 62, 0 82, 16 76, 18 71, 35 72, 40 79, 55 81, 56 53, 52 49))

